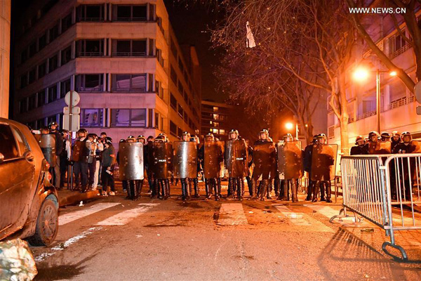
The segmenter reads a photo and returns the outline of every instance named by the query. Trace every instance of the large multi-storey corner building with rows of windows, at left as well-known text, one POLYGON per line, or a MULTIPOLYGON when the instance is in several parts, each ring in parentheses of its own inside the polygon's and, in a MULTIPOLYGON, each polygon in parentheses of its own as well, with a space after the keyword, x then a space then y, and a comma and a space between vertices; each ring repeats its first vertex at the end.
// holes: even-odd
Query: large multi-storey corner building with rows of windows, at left
POLYGON ((114 142, 199 129, 199 62, 194 47, 181 51, 162 0, 37 1, 17 26, 14 119, 62 125, 72 90, 81 127, 114 142))

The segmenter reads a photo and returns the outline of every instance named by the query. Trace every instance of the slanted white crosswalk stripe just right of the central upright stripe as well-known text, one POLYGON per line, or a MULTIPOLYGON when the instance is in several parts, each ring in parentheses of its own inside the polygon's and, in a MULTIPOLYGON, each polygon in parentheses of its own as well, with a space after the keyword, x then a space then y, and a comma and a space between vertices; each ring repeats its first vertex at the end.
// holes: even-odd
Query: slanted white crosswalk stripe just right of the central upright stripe
POLYGON ((304 213, 295 213, 288 207, 283 204, 272 204, 273 207, 278 209, 278 211, 289 218, 290 222, 293 223, 295 226, 311 226, 314 232, 326 232, 326 233, 333 233, 334 230, 325 224, 321 223, 320 221, 316 220, 316 218, 312 218, 311 216, 304 214, 304 213))

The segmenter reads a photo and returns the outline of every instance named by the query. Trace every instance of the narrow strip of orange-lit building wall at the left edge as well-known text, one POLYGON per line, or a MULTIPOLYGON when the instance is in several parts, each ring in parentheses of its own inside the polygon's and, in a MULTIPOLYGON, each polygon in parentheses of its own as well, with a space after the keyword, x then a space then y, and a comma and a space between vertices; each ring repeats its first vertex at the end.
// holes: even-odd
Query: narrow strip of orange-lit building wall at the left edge
POLYGON ((0 1, 0 117, 8 118, 11 0, 0 1))

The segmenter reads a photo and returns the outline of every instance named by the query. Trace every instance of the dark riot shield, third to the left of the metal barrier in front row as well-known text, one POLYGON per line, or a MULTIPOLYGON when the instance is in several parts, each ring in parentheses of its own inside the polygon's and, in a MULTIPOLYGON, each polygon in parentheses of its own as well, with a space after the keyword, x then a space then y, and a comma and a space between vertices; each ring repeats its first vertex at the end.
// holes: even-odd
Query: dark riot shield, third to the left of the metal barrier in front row
POLYGON ((253 146, 253 178, 269 179, 276 172, 276 150, 272 141, 257 141, 253 146))

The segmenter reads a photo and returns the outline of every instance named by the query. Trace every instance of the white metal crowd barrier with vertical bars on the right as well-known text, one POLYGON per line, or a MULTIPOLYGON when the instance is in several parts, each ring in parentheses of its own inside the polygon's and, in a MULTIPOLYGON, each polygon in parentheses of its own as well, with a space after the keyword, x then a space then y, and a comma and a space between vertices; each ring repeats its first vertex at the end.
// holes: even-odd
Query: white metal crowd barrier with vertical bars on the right
MULTIPOLYGON (((335 218, 352 211, 356 221, 368 219, 386 231, 387 246, 406 251, 395 243, 397 230, 421 230, 421 216, 415 211, 421 203, 421 153, 396 155, 344 156, 341 159, 343 209, 335 218), (342 214, 343 213, 343 214, 342 214)), ((393 256, 393 255, 392 255, 393 256)))

